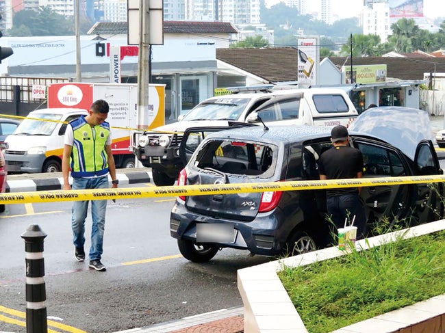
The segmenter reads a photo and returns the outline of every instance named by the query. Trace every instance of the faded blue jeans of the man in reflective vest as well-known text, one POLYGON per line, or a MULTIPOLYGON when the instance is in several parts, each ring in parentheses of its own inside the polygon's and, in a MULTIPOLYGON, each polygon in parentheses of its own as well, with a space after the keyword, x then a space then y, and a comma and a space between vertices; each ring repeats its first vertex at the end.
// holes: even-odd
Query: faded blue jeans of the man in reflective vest
MULTIPOLYGON (((73 178, 73 189, 106 189, 108 188, 108 176, 94 178, 73 178)), ((76 248, 84 248, 85 243, 85 219, 89 201, 75 201, 73 203, 73 217, 71 228, 73 229, 73 243, 76 248)), ((103 252, 103 231, 105 230, 105 211, 107 200, 91 200, 91 248, 90 261, 100 260, 103 252)))

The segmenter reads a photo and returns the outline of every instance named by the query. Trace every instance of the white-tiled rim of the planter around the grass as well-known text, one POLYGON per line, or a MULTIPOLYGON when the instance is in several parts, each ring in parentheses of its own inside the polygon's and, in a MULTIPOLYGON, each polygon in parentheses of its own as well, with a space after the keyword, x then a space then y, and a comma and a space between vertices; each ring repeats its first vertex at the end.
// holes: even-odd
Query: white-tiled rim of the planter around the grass
MULTIPOLYGON (((413 228, 368 238, 368 244, 357 241, 357 250, 390 243, 398 235, 405 238, 427 235, 445 229, 445 219, 413 228)), ((262 265, 238 270, 238 290, 244 304, 244 333, 306 333, 307 330, 285 291, 277 271, 283 267, 310 265, 347 254, 338 248, 326 248, 299 256, 283 258, 262 265)), ((387 312, 360 323, 349 325, 335 333, 444 333, 445 295, 433 297, 405 308, 387 312)))

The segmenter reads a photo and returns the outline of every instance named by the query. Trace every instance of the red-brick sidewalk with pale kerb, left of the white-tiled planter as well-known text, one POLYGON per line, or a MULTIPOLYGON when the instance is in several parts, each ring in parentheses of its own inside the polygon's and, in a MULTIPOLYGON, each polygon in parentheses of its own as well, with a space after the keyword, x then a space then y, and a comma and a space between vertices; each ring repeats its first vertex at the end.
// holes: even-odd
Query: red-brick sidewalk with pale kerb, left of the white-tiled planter
POLYGON ((242 333, 243 308, 229 308, 115 333, 242 333))

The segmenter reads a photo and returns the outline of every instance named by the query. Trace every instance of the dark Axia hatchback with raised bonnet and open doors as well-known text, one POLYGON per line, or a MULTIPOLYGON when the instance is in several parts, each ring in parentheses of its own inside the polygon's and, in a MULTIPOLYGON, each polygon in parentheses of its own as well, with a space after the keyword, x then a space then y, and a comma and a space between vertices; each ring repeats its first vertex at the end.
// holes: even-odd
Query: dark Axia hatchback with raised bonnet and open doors
MULTIPOLYGON (((184 134, 181 156, 190 159, 178 185, 317 180, 318 158, 331 147, 331 127, 324 126, 209 131, 189 129, 184 134)), ((364 178, 442 174, 422 110, 370 109, 355 120, 350 134, 350 144, 364 156, 364 178)), ((440 219, 443 194, 442 183, 437 191, 427 184, 364 187, 368 230, 384 218, 409 226, 440 219)), ((325 190, 182 196, 170 214, 170 235, 181 254, 198 263, 221 248, 295 254, 328 245, 325 216, 325 190)))

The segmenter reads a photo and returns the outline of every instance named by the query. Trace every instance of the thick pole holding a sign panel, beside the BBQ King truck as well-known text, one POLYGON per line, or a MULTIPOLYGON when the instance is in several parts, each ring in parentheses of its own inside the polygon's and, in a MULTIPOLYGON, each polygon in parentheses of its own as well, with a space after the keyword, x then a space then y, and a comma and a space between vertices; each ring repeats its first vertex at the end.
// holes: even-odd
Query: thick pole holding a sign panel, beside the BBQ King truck
POLYGON ((138 67, 138 127, 147 129, 149 124, 149 81, 150 81, 150 22, 149 0, 139 3, 139 67, 138 67))

